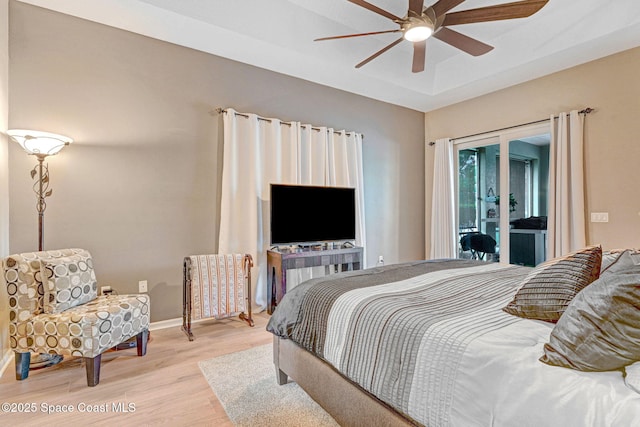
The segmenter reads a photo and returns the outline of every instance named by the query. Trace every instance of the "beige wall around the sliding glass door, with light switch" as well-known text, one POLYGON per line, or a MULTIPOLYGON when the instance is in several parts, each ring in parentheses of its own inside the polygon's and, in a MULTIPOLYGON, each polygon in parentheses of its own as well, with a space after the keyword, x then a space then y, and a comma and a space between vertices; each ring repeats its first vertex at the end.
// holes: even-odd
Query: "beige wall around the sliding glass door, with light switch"
MULTIPOLYGON (((460 137, 592 107, 586 118, 588 242, 603 248, 640 247, 640 48, 481 96, 425 115, 428 141, 460 137)), ((431 217, 433 148, 425 151, 426 224, 431 217)), ((430 236, 427 227, 426 246, 430 236)))

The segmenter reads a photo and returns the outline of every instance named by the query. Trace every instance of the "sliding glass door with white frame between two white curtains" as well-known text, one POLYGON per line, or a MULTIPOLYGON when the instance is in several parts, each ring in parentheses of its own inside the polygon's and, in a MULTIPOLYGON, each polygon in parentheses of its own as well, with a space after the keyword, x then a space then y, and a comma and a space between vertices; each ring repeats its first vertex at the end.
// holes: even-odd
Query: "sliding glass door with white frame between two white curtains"
POLYGON ((546 217, 549 142, 548 122, 455 141, 459 257, 544 260, 546 229, 517 227, 546 217))

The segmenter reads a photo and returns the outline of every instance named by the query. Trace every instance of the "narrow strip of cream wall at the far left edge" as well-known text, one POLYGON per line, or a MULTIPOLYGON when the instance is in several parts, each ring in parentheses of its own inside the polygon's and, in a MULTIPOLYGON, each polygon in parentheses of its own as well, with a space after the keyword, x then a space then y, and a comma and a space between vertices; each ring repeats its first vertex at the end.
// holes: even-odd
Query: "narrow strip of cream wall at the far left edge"
MULTIPOLYGON (((9 255, 9 0, 0 0, 0 258, 9 255)), ((0 368, 10 355, 7 291, 0 275, 0 368)))

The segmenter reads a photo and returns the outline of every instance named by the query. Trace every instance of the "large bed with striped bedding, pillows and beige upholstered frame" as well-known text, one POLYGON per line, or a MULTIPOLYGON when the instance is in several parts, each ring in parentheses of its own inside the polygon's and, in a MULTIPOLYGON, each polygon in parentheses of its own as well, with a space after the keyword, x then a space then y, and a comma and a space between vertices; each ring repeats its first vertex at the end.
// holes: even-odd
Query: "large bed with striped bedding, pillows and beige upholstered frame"
POLYGON ((640 360, 640 322, 629 319, 640 307, 638 254, 607 254, 605 265, 594 248, 536 268, 416 261, 304 282, 267 325, 278 383, 296 381, 340 425, 640 425, 640 386, 625 377, 640 360), (557 282, 559 271, 569 290, 545 288, 551 310, 532 315, 532 295, 540 299, 540 283, 557 282), (593 298, 595 311, 619 301, 598 292, 620 281, 632 296, 613 310, 617 320, 580 317, 593 298), (561 328, 575 322, 596 328, 580 331, 588 338, 577 349, 561 328), (614 336, 622 349, 598 347, 615 355, 589 365, 581 354, 587 341, 602 344, 590 341, 598 330, 614 330, 604 342, 614 336))

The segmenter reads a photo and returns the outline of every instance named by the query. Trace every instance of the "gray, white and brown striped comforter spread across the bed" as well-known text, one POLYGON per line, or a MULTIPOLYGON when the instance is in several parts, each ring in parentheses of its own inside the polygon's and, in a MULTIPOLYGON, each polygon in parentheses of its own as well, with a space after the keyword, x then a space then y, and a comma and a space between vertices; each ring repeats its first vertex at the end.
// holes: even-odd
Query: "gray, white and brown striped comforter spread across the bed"
POLYGON ((529 271, 443 260, 313 279, 287 293, 267 329, 410 419, 448 425, 469 343, 518 322, 501 308, 529 271))

